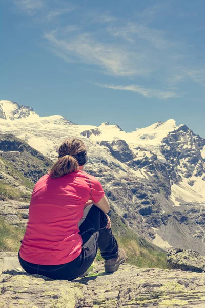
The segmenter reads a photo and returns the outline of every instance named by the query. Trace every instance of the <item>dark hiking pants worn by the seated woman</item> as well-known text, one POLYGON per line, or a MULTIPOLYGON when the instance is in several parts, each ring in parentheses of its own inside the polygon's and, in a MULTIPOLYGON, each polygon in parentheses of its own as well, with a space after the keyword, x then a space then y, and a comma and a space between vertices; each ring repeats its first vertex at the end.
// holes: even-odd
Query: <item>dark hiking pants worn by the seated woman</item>
POLYGON ((84 217, 79 222, 79 234, 83 239, 82 252, 73 261, 61 265, 38 265, 24 261, 18 253, 22 268, 27 273, 39 274, 59 280, 73 280, 87 271, 93 263, 97 248, 105 259, 118 256, 118 246, 111 229, 106 229, 107 217, 95 205, 90 205, 84 210, 84 217))

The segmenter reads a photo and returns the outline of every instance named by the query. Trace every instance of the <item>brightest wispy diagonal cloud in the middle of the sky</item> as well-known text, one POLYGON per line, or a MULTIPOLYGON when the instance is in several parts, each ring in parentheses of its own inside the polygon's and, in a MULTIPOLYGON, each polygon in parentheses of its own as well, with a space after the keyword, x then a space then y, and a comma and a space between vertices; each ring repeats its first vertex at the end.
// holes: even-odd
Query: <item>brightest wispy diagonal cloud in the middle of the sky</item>
POLYGON ((100 43, 89 33, 63 38, 60 37, 61 34, 62 31, 52 31, 44 37, 58 51, 56 55, 64 60, 73 57, 78 62, 96 65, 104 73, 115 76, 146 76, 151 71, 149 63, 143 63, 143 52, 132 52, 124 47, 100 43))

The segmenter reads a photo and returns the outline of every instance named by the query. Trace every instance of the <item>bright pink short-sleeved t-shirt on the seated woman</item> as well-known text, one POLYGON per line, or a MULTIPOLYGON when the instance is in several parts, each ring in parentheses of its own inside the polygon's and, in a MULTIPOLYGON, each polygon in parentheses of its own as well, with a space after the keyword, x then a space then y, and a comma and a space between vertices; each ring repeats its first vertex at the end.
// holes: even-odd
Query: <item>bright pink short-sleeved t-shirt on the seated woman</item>
POLYGON ((85 203, 97 203, 103 196, 100 182, 84 171, 57 179, 50 174, 40 178, 33 189, 20 257, 39 265, 59 265, 77 258, 82 249, 78 222, 85 203))

